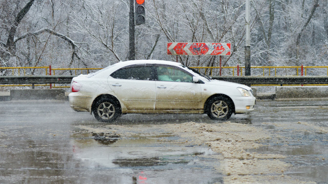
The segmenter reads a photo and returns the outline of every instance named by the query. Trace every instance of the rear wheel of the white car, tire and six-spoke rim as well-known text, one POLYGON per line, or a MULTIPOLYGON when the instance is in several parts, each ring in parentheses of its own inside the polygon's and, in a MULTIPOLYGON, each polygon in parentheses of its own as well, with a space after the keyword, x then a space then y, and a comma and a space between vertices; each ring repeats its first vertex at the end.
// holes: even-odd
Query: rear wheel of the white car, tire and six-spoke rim
POLYGON ((122 114, 120 104, 112 98, 100 98, 92 107, 94 117, 101 122, 112 122, 122 114))

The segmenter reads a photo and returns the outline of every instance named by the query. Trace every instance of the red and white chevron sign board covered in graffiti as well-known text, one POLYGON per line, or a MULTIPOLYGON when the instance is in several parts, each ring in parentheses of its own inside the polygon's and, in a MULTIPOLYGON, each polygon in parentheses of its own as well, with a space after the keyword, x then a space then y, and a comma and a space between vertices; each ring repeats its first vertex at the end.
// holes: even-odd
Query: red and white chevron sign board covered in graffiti
POLYGON ((230 55, 230 43, 167 43, 169 55, 230 55))

